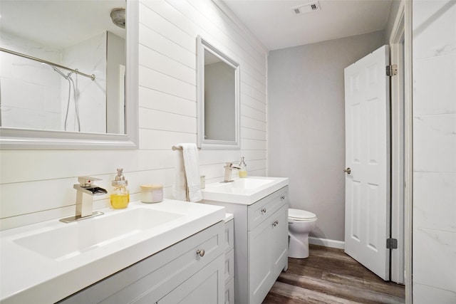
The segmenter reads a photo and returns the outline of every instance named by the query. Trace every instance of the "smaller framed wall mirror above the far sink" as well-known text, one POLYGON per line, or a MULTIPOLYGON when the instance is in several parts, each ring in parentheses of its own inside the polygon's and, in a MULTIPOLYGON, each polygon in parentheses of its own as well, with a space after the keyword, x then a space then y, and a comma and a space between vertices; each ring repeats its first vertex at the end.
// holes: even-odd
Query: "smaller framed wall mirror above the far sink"
POLYGON ((240 149, 239 64, 197 37, 197 139, 207 150, 240 149))

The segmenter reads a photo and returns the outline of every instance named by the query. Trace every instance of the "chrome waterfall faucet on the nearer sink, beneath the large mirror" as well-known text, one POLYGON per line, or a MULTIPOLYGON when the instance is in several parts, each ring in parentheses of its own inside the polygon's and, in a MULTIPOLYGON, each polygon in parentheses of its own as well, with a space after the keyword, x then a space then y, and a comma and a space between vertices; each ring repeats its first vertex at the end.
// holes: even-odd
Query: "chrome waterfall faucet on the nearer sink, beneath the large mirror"
POLYGON ((73 188, 76 189, 76 215, 60 221, 71 223, 72 221, 103 214, 100 211, 93 211, 93 196, 108 193, 105 189, 93 184, 93 181, 98 180, 100 179, 95 177, 78 177, 79 184, 73 185, 73 188))

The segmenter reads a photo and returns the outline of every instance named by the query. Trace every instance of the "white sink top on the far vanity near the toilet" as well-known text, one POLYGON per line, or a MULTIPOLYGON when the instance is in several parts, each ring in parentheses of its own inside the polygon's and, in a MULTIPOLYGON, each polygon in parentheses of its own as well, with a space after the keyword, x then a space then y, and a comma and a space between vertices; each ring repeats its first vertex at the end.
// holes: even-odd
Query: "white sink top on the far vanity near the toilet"
POLYGON ((225 201, 249 205, 286 185, 288 185, 288 178, 284 177, 240 178, 234 182, 207 184, 202 191, 202 198, 207 201, 225 201))

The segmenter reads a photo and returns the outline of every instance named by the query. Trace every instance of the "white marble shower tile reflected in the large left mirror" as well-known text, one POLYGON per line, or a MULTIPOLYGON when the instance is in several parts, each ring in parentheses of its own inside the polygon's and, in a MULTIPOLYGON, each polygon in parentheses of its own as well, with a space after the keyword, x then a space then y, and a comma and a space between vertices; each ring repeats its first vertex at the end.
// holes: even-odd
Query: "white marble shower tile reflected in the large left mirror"
MULTIPOLYGON (((105 119, 100 120, 96 117, 106 116, 106 33, 58 50, 2 32, 1 47, 52 63, 78 68, 83 73, 95 74, 94 81, 80 75, 72 75, 78 88, 81 131, 105 132, 105 119)), ((48 65, 9 53, 0 53, 0 63, 1 125, 64 130, 68 107, 68 80, 48 65)), ((68 71, 60 70, 68 74, 68 71)), ((67 130, 77 131, 73 98, 72 89, 67 130)))

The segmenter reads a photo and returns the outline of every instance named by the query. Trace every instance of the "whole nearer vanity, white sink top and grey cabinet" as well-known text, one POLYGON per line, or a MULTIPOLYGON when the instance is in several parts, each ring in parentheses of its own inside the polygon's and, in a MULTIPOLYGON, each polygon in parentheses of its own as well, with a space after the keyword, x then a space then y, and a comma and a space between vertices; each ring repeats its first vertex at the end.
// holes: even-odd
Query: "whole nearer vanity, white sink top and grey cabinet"
POLYGON ((100 211, 1 231, 0 303, 224 303, 224 208, 100 211))

